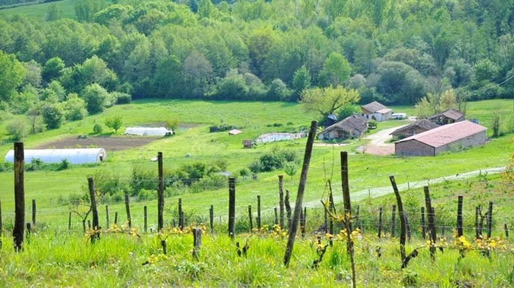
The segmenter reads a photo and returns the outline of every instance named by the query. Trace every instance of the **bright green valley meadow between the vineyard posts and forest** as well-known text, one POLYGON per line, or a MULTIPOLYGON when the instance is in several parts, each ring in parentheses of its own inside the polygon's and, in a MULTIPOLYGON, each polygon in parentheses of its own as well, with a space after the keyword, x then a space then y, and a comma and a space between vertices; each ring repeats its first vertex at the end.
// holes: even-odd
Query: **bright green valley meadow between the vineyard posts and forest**
MULTIPOLYGON (((487 107, 489 111, 509 113, 508 101, 494 100, 475 102, 468 105, 468 115, 478 117, 487 125, 489 113, 482 111, 487 107)), ((400 109, 395 109, 401 112, 400 109)), ((100 115, 89 116, 84 120, 69 122, 57 130, 46 131, 41 134, 29 136, 25 141, 27 149, 34 148, 45 142, 66 137, 77 137, 92 133, 95 122, 103 124, 105 117, 113 115, 123 116, 124 126, 155 124, 169 118, 177 118, 181 122, 194 123, 197 126, 181 130, 177 135, 157 139, 148 145, 130 150, 108 152, 108 160, 93 167, 72 167, 71 169, 51 172, 36 171, 26 173, 26 197, 36 199, 38 202, 38 217, 41 221, 66 225, 69 207, 59 204, 60 197, 70 194, 82 194, 86 187, 86 177, 98 173, 118 174, 121 181, 130 181, 131 171, 134 167, 148 167, 157 169, 156 163, 150 159, 158 151, 164 153, 164 166, 166 169, 176 169, 183 163, 194 161, 211 162, 216 159, 228 161, 228 170, 237 172, 248 166, 256 157, 270 151, 275 147, 296 151, 303 155, 305 139, 298 141, 283 141, 260 145, 256 149, 243 149, 242 140, 252 139, 263 133, 272 131, 300 130, 307 127, 314 115, 305 114, 297 104, 283 102, 208 102, 184 100, 145 100, 136 101, 130 105, 120 105, 108 109, 100 115), (229 136, 224 132, 209 133, 208 126, 224 122, 228 125, 240 127, 242 134, 229 136), (282 124, 273 127, 272 124, 282 124), (287 125, 288 123, 292 123, 287 125), (269 127, 270 126, 270 127, 269 127), (190 153, 191 157, 186 158, 190 153)), ((398 121, 398 124, 403 122, 398 121)), ((384 127, 393 126, 389 121, 384 127)), ((5 121, 0 123, 0 131, 5 133, 5 121)), ((379 127, 379 129, 381 129, 379 127)), ((118 132, 122 134, 124 128, 118 132)), ((4 137, 5 138, 5 137, 4 137)), ((350 157, 351 189, 358 191, 373 187, 388 186, 388 176, 393 174, 399 183, 415 182, 423 179, 432 179, 456 173, 469 172, 478 169, 503 166, 508 161, 512 151, 510 136, 492 140, 484 147, 469 149, 457 153, 449 153, 436 157, 402 158, 396 156, 373 156, 357 154, 353 151, 364 141, 355 141, 351 145, 341 148, 316 147, 309 171, 305 201, 316 201, 324 191, 324 163, 331 170, 333 155, 338 159, 340 150, 352 152, 350 157)), ((12 144, 6 142, 0 146, 0 154, 12 149, 12 144)), ((336 162, 337 163, 337 162, 336 162)), ((337 167, 337 164, 336 164, 337 167)), ((255 204, 256 195, 262 196, 263 209, 273 208, 277 202, 277 175, 283 171, 260 173, 257 180, 239 178, 237 183, 237 212, 244 214, 248 204, 255 204)), ((294 196, 297 189, 299 172, 294 177, 285 177, 285 188, 294 196)), ((338 175, 337 171, 335 175, 338 175)), ((334 179, 334 186, 340 187, 338 177, 334 179)), ((12 173, 0 173, 0 195, 7 213, 13 207, 13 176, 12 173)), ((206 215, 210 205, 215 207, 215 215, 226 215, 226 189, 206 191, 201 193, 186 193, 166 199, 168 220, 176 206, 177 198, 181 197, 185 210, 189 213, 206 215)), ((27 208, 29 208, 27 201, 27 208)), ((124 211, 121 203, 111 203, 112 213, 124 211)), ((142 222, 143 206, 149 206, 149 221, 155 223, 156 208, 154 200, 131 203, 133 220, 142 222)), ((11 214, 12 215, 12 214, 11 214)), ((7 215, 9 219, 10 215, 7 215)), ((74 223, 79 223, 78 219, 74 223)))

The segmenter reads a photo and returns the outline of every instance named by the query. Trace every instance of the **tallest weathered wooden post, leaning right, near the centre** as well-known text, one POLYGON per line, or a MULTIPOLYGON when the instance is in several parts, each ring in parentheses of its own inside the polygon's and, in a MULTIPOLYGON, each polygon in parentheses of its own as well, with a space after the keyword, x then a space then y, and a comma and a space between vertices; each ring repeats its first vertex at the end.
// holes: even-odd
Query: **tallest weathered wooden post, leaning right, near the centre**
MULTIPOLYGON (((284 265, 289 266, 293 246, 295 245, 295 237, 298 230, 298 222, 300 220, 300 212, 302 211, 303 193, 305 191, 305 184, 307 182, 307 174, 309 171, 310 157, 313 153, 314 137, 316 136, 316 129, 318 123, 312 121, 310 124, 309 136, 307 138, 307 145, 305 147, 305 155, 303 158, 302 173, 300 174, 300 184, 298 186, 298 194, 296 197, 295 212, 293 213, 291 223, 289 225, 289 235, 287 238, 287 246, 284 254, 284 265)), ((287 192, 287 191, 286 191, 287 192)), ((286 195, 286 199, 288 195, 286 195)))

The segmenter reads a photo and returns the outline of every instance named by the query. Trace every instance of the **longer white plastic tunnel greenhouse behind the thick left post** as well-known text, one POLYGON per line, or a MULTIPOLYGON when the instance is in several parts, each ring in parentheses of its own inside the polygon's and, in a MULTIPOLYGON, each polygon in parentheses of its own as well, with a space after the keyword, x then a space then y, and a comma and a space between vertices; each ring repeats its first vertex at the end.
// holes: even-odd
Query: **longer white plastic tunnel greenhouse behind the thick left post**
MULTIPOLYGON (((32 159, 40 159, 45 163, 60 163, 66 159, 71 164, 99 163, 107 159, 107 152, 103 148, 89 149, 45 149, 25 150, 25 163, 32 159)), ((14 150, 5 156, 6 162, 14 162, 14 150)))

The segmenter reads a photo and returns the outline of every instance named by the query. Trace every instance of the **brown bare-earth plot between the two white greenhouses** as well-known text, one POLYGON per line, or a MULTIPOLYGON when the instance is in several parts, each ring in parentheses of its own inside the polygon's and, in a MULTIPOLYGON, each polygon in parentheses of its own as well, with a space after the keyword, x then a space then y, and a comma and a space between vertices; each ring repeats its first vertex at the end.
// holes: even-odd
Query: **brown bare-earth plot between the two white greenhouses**
POLYGON ((112 137, 69 137, 45 143, 35 147, 36 149, 67 149, 67 148, 103 148, 107 151, 120 151, 144 146, 156 141, 160 137, 144 136, 112 136, 112 137))

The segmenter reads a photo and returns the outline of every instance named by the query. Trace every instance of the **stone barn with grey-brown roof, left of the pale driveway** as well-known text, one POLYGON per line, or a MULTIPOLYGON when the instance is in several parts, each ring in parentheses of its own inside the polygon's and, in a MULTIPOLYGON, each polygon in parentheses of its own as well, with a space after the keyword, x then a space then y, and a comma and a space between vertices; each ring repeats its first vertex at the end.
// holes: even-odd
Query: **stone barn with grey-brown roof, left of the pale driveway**
POLYGON ((352 115, 328 126, 318 135, 320 140, 357 138, 368 129, 368 122, 364 116, 352 115))

